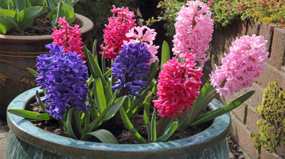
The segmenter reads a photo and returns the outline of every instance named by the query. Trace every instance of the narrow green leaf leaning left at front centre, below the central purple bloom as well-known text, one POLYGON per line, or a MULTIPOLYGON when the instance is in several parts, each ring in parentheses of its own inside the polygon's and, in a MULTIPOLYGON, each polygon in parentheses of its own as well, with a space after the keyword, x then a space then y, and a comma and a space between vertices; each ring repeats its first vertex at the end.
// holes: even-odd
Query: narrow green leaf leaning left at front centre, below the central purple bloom
POLYGON ((133 127, 132 123, 130 122, 130 119, 128 118, 126 112, 124 111, 124 108, 120 106, 120 114, 122 117, 122 120, 124 122, 124 125, 130 131, 130 133, 133 135, 136 141, 139 143, 147 143, 145 139, 143 139, 142 136, 136 131, 136 129, 133 127))

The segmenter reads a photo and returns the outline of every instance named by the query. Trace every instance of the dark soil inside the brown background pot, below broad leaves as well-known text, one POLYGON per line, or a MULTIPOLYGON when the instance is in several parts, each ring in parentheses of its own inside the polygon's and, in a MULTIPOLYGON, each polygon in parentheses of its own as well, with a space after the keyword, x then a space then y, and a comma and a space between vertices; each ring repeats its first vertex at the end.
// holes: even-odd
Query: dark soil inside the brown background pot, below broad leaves
POLYGON ((16 36, 31 36, 31 35, 51 35, 52 34, 52 20, 49 20, 45 16, 36 17, 32 25, 26 28, 24 31, 10 30, 5 35, 16 36))

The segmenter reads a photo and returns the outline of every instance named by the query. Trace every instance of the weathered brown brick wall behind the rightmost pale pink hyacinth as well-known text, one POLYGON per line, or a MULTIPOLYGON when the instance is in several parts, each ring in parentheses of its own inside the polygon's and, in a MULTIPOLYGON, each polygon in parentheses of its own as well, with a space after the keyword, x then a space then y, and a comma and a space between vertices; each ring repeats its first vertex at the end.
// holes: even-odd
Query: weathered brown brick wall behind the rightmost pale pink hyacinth
MULTIPOLYGON (((230 112, 232 117, 230 133, 232 137, 252 159, 255 159, 257 158, 256 149, 253 147, 253 139, 250 137, 250 131, 258 131, 256 121, 260 119, 260 116, 255 107, 262 103, 264 88, 269 81, 274 80, 283 90, 285 89, 285 27, 258 24, 258 22, 248 20, 235 22, 228 28, 215 30, 208 51, 209 61, 205 64, 204 73, 209 74, 211 70, 214 70, 214 64, 221 64, 223 53, 229 53, 229 46, 236 37, 251 36, 252 34, 262 35, 268 41, 266 48, 269 52, 269 60, 265 63, 266 70, 255 80, 252 87, 244 88, 230 98, 221 97, 221 99, 228 103, 250 90, 256 91, 250 99, 230 112)), ((203 81, 206 78, 204 77, 203 81)), ((277 152, 273 154, 261 150, 261 159, 269 158, 285 158, 285 145, 281 142, 277 147, 277 152)))

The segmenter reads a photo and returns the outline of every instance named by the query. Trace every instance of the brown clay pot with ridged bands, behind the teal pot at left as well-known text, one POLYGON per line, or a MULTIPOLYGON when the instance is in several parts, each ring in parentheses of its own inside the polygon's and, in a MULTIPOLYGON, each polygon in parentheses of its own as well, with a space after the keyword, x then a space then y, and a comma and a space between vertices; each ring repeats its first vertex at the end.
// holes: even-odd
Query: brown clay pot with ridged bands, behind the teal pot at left
MULTIPOLYGON (((75 22, 81 26, 81 38, 87 40, 93 28, 90 19, 76 14, 75 22)), ((35 78, 26 69, 35 68, 36 57, 49 50, 45 45, 52 43, 52 35, 11 36, 0 34, 0 78, 1 118, 6 118, 8 104, 20 93, 36 86, 35 78)))

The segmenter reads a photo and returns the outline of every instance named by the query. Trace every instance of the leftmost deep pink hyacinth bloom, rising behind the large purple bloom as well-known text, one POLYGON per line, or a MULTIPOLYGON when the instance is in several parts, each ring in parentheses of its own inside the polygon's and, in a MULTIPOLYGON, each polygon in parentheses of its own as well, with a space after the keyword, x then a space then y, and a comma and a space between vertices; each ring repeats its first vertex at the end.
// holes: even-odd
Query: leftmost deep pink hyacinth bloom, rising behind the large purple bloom
POLYGON ((64 53, 67 53, 68 51, 76 52, 77 55, 81 55, 81 58, 85 58, 84 52, 82 52, 83 46, 81 46, 83 42, 80 38, 80 26, 77 24, 74 27, 69 26, 68 22, 65 21, 65 17, 59 17, 57 23, 61 25, 61 28, 58 30, 54 26, 54 29, 52 29, 54 31, 52 33, 54 44, 57 43, 58 46, 63 46, 64 53))

